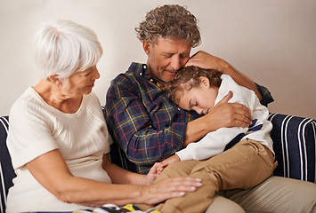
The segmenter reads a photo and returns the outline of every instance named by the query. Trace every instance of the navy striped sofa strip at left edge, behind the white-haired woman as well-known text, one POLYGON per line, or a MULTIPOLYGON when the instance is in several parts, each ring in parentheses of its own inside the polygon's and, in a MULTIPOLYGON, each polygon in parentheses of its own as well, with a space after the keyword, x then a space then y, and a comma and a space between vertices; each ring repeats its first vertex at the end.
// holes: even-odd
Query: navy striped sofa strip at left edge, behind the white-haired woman
POLYGON ((12 178, 15 177, 11 157, 6 147, 8 128, 8 117, 0 117, 0 212, 5 212, 6 195, 8 194, 9 188, 12 186, 12 178))

